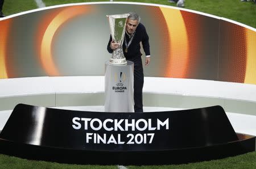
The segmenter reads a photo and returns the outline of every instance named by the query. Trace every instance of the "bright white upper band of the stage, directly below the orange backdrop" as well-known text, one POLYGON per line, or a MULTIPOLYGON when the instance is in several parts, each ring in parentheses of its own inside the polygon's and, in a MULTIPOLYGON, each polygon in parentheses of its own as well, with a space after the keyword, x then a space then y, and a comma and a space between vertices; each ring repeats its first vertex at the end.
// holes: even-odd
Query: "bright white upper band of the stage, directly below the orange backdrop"
MULTIPOLYGON (((0 79, 0 98, 40 94, 104 93, 104 76, 0 79)), ((144 93, 202 96, 256 102, 256 85, 179 78, 144 78, 144 93)), ((1 109, 1 108, 0 108, 1 109)))

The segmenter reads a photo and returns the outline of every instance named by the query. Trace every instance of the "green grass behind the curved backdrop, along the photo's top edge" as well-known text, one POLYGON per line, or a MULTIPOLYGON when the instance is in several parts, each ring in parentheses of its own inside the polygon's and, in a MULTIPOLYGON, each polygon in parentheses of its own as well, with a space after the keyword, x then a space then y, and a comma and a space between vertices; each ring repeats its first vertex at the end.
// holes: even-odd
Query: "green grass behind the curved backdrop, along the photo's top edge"
MULTIPOLYGON (((46 6, 102 1, 104 0, 43 0, 43 2, 46 3, 46 6)), ((170 3, 167 0, 114 0, 114 2, 117 1, 156 3, 175 6, 175 3, 170 3)), ((185 1, 185 8, 236 20, 237 22, 256 28, 256 5, 253 2, 240 2, 240 0, 187 0, 185 1)), ((36 9, 36 4, 33 0, 7 0, 3 6, 3 12, 6 15, 31 9, 36 9)))

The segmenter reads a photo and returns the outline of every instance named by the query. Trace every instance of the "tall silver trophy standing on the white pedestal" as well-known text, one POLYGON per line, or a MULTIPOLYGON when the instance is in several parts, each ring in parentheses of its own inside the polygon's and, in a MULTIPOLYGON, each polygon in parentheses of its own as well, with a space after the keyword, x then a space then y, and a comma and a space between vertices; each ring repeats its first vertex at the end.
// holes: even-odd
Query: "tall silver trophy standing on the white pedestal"
POLYGON ((125 36, 126 20, 129 14, 107 15, 109 19, 110 33, 112 40, 119 44, 119 48, 115 49, 109 60, 110 64, 124 65, 127 64, 125 55, 123 54, 123 37, 125 36))

